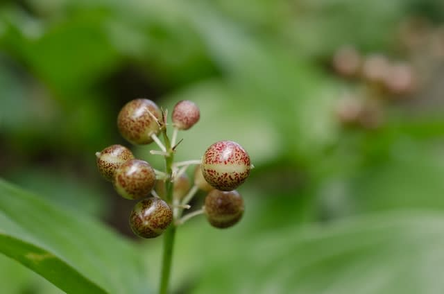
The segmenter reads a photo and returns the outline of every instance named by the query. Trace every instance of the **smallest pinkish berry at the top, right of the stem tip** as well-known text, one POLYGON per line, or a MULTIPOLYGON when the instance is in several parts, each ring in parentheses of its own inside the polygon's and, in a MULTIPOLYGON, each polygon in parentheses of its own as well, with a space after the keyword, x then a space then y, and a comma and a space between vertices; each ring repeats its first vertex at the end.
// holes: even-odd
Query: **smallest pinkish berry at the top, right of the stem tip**
POLYGON ((200 119, 199 107, 189 100, 182 100, 176 103, 173 109, 173 124, 179 130, 188 130, 200 119))

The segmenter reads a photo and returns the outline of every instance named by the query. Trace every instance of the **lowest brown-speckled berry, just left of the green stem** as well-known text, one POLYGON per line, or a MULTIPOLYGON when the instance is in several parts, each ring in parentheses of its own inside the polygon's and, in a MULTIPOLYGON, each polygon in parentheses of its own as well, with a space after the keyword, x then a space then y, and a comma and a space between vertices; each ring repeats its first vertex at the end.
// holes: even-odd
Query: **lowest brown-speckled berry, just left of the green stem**
POLYGON ((151 197, 138 202, 130 214, 130 227, 142 238, 160 236, 173 221, 173 211, 167 202, 151 197))

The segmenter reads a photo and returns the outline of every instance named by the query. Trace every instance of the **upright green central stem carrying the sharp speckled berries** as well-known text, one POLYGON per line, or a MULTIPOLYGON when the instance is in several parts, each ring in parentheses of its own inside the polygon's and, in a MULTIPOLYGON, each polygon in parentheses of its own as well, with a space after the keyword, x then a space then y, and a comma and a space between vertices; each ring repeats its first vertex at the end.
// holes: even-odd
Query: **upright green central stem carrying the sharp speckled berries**
MULTIPOLYGON (((171 148, 171 142, 167 136, 167 130, 162 130, 164 144, 169 156, 165 156, 165 172, 170 176, 173 173, 174 151, 171 148)), ((165 200, 169 205, 173 204, 173 183, 171 180, 165 181, 165 191, 167 191, 165 200)), ((164 244, 162 254, 162 272, 160 275, 160 294, 167 294, 169 288, 169 279, 171 276, 171 263, 173 261, 174 237, 176 236, 176 225, 172 223, 164 232, 164 244)))

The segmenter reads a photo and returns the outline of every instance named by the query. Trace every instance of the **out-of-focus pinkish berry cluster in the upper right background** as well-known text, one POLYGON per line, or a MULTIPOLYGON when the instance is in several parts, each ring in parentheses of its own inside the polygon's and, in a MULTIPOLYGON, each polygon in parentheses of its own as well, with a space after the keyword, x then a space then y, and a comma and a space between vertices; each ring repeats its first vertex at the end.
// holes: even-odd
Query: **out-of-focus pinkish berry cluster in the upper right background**
POLYGON ((381 53, 364 56, 353 46, 336 51, 332 68, 356 84, 354 91, 343 94, 336 105, 336 115, 343 126, 379 128, 384 123, 384 105, 411 98, 420 84, 411 62, 391 60, 381 53))

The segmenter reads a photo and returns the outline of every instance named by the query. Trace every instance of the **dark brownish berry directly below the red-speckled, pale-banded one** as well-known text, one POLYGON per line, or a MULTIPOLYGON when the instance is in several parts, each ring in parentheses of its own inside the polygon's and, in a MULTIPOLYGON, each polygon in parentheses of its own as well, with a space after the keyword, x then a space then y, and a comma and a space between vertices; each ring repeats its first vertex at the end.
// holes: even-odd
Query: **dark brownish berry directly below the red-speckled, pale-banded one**
POLYGON ((204 211, 213 227, 231 227, 244 214, 244 200, 237 191, 213 190, 205 198, 204 211))

